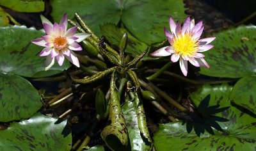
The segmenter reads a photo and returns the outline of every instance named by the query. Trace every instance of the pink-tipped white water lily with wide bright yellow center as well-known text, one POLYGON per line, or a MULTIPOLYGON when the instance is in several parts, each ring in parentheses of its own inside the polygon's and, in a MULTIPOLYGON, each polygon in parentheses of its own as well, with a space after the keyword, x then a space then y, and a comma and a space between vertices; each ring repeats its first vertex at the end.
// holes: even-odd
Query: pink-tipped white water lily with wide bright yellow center
POLYGON ((214 45, 209 44, 215 37, 200 39, 204 30, 203 22, 200 21, 195 25, 195 20, 187 17, 181 27, 180 22, 177 24, 172 17, 169 19, 170 29, 164 28, 164 34, 167 37, 169 46, 162 47, 151 53, 152 56, 171 56, 173 62, 179 60, 180 69, 184 76, 188 74, 188 61, 195 67, 210 66, 204 60, 204 54, 200 52, 208 51, 214 45))

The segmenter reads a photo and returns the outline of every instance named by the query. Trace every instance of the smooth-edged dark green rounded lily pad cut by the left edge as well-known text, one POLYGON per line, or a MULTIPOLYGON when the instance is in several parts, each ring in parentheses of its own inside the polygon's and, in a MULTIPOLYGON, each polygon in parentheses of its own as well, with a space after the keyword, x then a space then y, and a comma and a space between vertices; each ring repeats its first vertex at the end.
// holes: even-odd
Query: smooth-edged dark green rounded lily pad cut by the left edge
POLYGON ((29 118, 41 107, 38 91, 23 77, 0 72, 0 121, 29 118))

